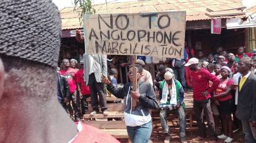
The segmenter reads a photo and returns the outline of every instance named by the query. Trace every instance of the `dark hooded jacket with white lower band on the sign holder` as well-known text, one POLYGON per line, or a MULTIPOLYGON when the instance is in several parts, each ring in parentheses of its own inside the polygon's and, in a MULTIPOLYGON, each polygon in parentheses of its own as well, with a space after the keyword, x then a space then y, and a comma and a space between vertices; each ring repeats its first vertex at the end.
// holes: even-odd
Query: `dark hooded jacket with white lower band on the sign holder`
POLYGON ((156 96, 150 83, 140 81, 138 83, 140 97, 137 100, 137 106, 132 111, 132 84, 127 83, 123 88, 115 88, 112 83, 108 84, 107 89, 117 98, 124 99, 124 120, 126 126, 141 126, 151 121, 150 109, 158 108, 156 96))

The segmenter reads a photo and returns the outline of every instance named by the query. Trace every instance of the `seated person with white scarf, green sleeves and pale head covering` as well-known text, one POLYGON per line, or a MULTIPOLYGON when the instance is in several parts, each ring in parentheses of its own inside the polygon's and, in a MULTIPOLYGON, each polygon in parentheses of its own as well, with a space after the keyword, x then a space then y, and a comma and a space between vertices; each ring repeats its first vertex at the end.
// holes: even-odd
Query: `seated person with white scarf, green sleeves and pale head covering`
POLYGON ((168 143, 171 139, 166 118, 170 110, 176 110, 179 118, 179 129, 181 142, 186 142, 186 115, 184 112, 184 90, 181 83, 174 78, 173 73, 166 71, 164 73, 164 81, 160 82, 160 120, 165 136, 164 142, 168 143))

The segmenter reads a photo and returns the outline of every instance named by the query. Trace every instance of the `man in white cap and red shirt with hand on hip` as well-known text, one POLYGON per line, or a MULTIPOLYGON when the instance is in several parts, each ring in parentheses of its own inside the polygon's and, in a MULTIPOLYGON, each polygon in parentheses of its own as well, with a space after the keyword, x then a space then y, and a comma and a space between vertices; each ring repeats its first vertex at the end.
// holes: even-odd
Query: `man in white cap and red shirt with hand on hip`
POLYGON ((203 123, 202 118, 203 111, 207 116, 210 138, 215 142, 218 138, 215 133, 215 124, 211 112, 210 94, 218 87, 220 80, 216 78, 216 76, 212 75, 208 70, 199 68, 197 65, 198 62, 198 59, 193 57, 185 64, 185 66, 189 67, 191 70, 194 110, 199 128, 199 136, 194 140, 200 141, 206 137, 205 124, 203 123), (209 81, 213 82, 211 88, 209 88, 209 81))

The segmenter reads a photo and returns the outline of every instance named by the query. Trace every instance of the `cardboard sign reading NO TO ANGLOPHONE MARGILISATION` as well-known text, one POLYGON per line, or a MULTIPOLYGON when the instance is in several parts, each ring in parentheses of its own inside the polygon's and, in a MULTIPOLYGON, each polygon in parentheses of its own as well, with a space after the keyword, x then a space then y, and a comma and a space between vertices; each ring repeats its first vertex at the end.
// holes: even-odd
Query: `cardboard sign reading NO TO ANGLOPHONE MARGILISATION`
POLYGON ((87 54, 183 58, 186 12, 84 15, 87 54))

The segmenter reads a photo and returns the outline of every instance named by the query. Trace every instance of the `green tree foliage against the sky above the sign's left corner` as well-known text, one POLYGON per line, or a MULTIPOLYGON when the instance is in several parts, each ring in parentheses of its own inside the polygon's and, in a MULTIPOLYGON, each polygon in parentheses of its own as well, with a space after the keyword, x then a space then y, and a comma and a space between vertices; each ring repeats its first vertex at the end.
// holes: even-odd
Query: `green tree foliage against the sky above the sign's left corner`
POLYGON ((74 6, 74 11, 79 12, 80 25, 82 25, 84 14, 95 14, 96 12, 91 0, 74 0, 74 6))

